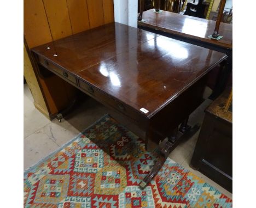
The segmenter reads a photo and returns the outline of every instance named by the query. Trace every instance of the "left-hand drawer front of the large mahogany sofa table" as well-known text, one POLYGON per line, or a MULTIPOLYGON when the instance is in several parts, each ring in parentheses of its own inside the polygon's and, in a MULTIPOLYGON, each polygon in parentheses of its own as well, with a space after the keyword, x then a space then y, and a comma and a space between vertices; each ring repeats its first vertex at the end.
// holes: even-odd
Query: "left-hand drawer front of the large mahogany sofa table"
POLYGON ((74 75, 71 73, 67 72, 66 70, 61 69, 59 66, 49 62, 48 60, 44 59, 43 57, 39 56, 39 62, 42 64, 45 68, 56 72, 57 74, 61 75, 62 77, 68 79, 74 84, 77 84, 77 79, 75 78, 74 75))

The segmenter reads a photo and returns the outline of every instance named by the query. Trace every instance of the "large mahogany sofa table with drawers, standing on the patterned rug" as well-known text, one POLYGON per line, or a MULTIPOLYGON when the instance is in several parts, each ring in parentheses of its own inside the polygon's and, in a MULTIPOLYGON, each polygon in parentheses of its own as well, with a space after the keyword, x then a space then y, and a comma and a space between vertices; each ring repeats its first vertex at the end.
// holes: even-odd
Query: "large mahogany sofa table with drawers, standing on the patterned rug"
POLYGON ((32 54, 40 76, 60 76, 137 124, 146 132, 147 150, 169 138, 160 144, 161 157, 142 188, 177 145, 173 129, 201 104, 207 73, 226 59, 223 53, 120 23, 49 42, 32 54))

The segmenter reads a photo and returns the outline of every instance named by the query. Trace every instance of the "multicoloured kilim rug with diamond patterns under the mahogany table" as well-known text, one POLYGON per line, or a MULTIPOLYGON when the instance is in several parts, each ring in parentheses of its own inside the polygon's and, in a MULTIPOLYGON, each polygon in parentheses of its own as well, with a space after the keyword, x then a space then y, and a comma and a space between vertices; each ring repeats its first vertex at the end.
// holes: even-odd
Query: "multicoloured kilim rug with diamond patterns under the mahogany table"
POLYGON ((141 191, 155 156, 108 115, 24 173, 24 207, 232 207, 170 158, 141 191))

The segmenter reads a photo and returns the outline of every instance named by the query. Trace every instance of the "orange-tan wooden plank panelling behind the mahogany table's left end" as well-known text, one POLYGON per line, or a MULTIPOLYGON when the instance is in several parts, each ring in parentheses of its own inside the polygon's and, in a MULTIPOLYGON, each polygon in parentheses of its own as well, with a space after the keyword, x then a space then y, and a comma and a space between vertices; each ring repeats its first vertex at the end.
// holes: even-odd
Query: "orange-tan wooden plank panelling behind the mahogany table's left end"
POLYGON ((33 66, 24 70, 24 76, 34 105, 48 118, 67 107, 77 89, 54 74, 39 76, 30 49, 110 22, 113 0, 24 0, 24 44, 30 57, 24 64, 33 66))

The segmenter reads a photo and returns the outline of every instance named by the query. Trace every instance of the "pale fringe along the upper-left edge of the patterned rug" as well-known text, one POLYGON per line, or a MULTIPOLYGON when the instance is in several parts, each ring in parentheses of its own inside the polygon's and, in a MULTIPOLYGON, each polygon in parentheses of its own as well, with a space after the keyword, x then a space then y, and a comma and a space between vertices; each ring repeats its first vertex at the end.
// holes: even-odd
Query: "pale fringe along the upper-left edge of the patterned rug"
POLYGON ((36 162, 35 164, 33 164, 32 166, 26 168, 24 170, 24 175, 26 175, 28 172, 30 172, 31 169, 35 168, 36 166, 39 166, 40 163, 48 160, 49 157, 55 155, 57 152, 61 151, 62 149, 64 149, 66 146, 68 146, 69 144, 71 144, 72 142, 74 142, 75 139, 77 139, 78 137, 80 137, 82 134, 84 134, 85 131, 87 131, 88 129, 90 129, 92 126, 94 126, 95 124, 97 124, 98 122, 100 122, 102 119, 106 118, 106 117, 110 117, 109 114, 105 114, 103 115, 103 117, 101 117, 100 119, 96 120, 93 124, 91 124, 90 126, 88 126, 86 129, 84 129, 82 132, 80 132, 77 136, 73 137, 71 140, 69 140, 68 142, 66 142, 65 144, 62 144, 59 148, 57 148, 56 150, 54 150, 53 152, 51 152, 48 156, 43 157, 41 160, 39 160, 38 162, 36 162))

